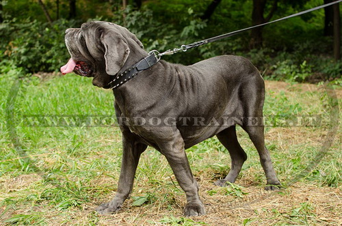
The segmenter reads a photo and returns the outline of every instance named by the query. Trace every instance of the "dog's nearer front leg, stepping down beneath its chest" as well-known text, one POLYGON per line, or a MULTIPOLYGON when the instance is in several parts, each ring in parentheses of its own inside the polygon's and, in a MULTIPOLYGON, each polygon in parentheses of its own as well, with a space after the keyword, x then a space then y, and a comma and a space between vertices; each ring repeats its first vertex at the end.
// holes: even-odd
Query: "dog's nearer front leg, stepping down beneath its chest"
POLYGON ((185 191, 187 206, 185 216, 199 216, 205 214, 205 208, 198 195, 198 184, 192 175, 189 161, 184 150, 184 141, 179 130, 173 132, 167 141, 159 143, 161 153, 166 156, 176 180, 185 191))

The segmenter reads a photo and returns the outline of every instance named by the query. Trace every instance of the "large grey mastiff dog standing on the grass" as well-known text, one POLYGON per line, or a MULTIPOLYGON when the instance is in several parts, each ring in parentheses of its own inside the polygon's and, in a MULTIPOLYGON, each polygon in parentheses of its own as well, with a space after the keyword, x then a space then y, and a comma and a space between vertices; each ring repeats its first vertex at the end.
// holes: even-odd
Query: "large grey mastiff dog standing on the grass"
MULTIPOLYGON (((105 89, 148 56, 133 33, 114 23, 96 21, 67 29, 65 41, 71 59, 61 71, 93 77, 93 85, 105 89)), ((231 171, 215 184, 235 182, 247 158, 237 141, 236 124, 246 130, 257 148, 266 188, 280 185, 265 147, 263 124, 251 123, 251 119, 263 117, 265 85, 248 59, 223 55, 191 66, 161 60, 113 91, 116 117, 119 121, 124 118, 120 124, 122 165, 116 195, 97 208, 99 213, 120 210, 131 193, 140 155, 150 145, 166 156, 185 191, 185 215, 205 214, 185 150, 216 135, 231 155, 231 171)))

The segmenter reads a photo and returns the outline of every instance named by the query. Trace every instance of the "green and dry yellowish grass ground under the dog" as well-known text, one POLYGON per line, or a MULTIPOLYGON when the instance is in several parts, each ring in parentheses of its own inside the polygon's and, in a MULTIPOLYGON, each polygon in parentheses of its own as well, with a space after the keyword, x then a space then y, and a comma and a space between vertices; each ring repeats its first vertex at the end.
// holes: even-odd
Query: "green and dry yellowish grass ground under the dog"
MULTIPOLYGON (((114 115, 111 91, 93 87, 90 79, 75 75, 44 81, 30 77, 17 89, 11 107, 9 94, 17 74, 10 71, 0 77, 3 224, 336 225, 339 221, 336 216, 341 206, 333 202, 341 195, 341 129, 331 147, 321 152, 334 125, 329 125, 330 102, 320 85, 267 82, 265 115, 272 115, 272 123, 282 123, 293 114, 322 117, 319 126, 266 128, 266 145, 285 186, 279 193, 263 191, 265 176, 259 156, 246 132, 238 128, 248 160, 237 184, 213 186, 230 169, 230 157, 218 139, 187 150, 207 215, 182 216, 183 190, 165 158, 149 148, 138 166, 131 199, 118 214, 100 216, 94 208, 115 194, 118 182, 119 128, 31 127, 25 115, 114 115)), ((341 97, 341 89, 337 91, 341 97)))

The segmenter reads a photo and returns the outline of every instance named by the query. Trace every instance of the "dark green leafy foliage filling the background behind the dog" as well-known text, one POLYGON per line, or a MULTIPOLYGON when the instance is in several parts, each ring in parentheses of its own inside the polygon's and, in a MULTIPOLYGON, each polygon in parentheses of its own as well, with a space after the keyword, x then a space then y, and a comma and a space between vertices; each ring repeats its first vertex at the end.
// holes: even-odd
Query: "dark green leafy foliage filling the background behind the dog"
MULTIPOLYGON (((66 20, 68 1, 61 0, 61 19, 49 25, 44 22, 44 16, 37 15, 41 12, 38 3, 28 4, 23 0, 11 1, 11 4, 2 2, 5 21, 0 24, 1 64, 15 65, 25 72, 57 71, 69 57, 64 44, 65 29, 79 27, 86 20, 112 21, 135 33, 146 51, 166 51, 248 27, 252 13, 251 0, 222 0, 210 20, 201 19, 209 1, 142 1, 140 10, 134 8, 134 4, 122 10, 119 1, 77 0, 78 20, 66 20)), ((55 2, 46 1, 46 4, 50 14, 57 16, 55 2)), ((315 0, 280 1, 274 18, 317 5, 319 3, 315 0)), ((265 14, 271 8, 271 1, 267 1, 265 14)), ((332 38, 322 36, 322 21, 324 12, 319 10, 264 27, 264 46, 261 49, 250 50, 248 33, 244 33, 163 59, 192 64, 216 55, 243 55, 251 59, 267 79, 303 82, 339 78, 341 61, 335 62, 329 56, 332 38)))

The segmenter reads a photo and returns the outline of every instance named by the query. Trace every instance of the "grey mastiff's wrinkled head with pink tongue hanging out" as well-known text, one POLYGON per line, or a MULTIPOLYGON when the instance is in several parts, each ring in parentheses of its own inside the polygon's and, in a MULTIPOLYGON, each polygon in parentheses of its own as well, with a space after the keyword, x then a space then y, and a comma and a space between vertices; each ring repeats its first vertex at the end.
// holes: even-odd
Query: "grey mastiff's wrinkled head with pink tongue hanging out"
POLYGON ((94 21, 81 28, 69 28, 65 35, 71 59, 61 72, 94 77, 92 84, 109 88, 108 83, 127 62, 130 53, 144 48, 126 28, 114 23, 94 21))

